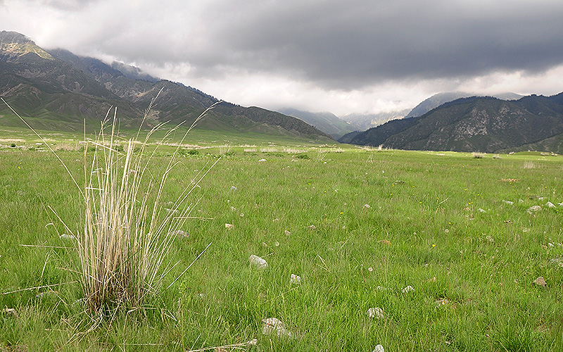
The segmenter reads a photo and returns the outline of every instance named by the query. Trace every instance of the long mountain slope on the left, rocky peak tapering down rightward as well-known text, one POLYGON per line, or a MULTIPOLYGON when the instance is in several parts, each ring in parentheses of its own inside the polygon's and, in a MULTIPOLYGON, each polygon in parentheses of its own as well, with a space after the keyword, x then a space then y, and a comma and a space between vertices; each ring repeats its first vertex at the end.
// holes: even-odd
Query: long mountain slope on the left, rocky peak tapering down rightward
MULTIPOLYGON (((70 129, 80 127, 84 120, 99 126, 112 106, 118 108, 122 127, 139 126, 157 95, 146 127, 167 121, 191 123, 219 101, 198 89, 160 80, 123 63, 108 65, 63 49, 46 51, 23 34, 6 31, 0 32, 0 95, 40 124, 62 121, 70 129)), ((6 106, 0 106, 0 113, 6 111, 6 106)), ((298 118, 227 102, 215 106, 198 127, 332 140, 298 118)))

